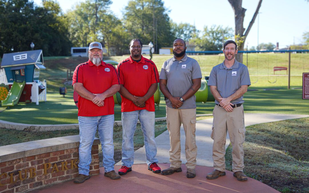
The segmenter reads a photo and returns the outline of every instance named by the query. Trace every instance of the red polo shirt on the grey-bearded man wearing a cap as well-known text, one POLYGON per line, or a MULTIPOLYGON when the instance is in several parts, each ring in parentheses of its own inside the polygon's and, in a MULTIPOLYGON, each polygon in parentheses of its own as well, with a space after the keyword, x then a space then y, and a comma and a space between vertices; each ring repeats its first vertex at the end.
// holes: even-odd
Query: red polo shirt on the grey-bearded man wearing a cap
MULTIPOLYGON (((90 60, 75 68, 73 84, 76 82, 83 83, 83 86, 94 94, 103 93, 112 85, 120 84, 116 68, 113 65, 101 61, 101 64, 96 66, 90 60)), ((113 115, 114 105, 113 96, 104 100, 103 107, 98 107, 92 101, 78 96, 78 116, 113 115)))

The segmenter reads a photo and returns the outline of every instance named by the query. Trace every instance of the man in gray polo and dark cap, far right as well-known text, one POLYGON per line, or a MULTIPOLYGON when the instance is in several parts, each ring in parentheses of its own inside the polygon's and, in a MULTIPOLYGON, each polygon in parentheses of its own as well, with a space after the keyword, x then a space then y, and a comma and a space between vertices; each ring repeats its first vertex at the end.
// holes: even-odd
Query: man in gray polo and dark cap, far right
POLYGON ((239 181, 247 180, 243 173, 243 142, 245 125, 243 115, 243 94, 251 85, 248 68, 235 60, 237 44, 228 40, 224 43, 225 60, 214 66, 210 72, 208 85, 215 100, 214 120, 211 138, 214 139, 214 171, 207 174, 208 179, 225 175, 225 142, 226 130, 229 132, 232 151, 233 176, 239 181))

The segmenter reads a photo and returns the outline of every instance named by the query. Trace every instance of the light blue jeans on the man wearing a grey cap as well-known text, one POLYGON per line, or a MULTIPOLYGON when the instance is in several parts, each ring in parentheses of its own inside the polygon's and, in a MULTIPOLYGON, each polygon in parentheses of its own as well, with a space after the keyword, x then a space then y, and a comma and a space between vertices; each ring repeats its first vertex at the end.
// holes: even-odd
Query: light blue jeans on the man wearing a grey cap
POLYGON ((78 116, 79 125, 79 163, 78 173, 89 175, 91 163, 91 147, 98 129, 103 151, 103 167, 105 172, 114 170, 113 129, 114 115, 84 117, 78 116))

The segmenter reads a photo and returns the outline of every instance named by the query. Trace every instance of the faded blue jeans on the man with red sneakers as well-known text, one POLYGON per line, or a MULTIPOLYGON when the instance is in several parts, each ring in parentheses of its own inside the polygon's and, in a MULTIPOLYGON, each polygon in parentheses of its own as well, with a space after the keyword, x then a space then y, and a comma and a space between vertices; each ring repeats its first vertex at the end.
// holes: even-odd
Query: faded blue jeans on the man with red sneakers
POLYGON ((134 162, 133 136, 136 130, 137 120, 141 123, 146 149, 146 163, 149 166, 158 162, 157 145, 155 144, 155 112, 138 110, 122 112, 122 165, 131 167, 134 162))

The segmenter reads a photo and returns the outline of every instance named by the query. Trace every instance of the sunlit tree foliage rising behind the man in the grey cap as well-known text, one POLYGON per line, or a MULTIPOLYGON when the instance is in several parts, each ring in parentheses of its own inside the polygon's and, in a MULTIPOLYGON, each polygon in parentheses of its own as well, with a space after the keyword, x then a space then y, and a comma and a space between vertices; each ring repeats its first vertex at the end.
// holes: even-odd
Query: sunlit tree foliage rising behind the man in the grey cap
POLYGON ((73 46, 88 46, 99 41, 108 54, 113 50, 116 55, 126 53, 129 41, 121 20, 109 13, 111 0, 87 0, 76 5, 67 13, 70 40, 73 46))

